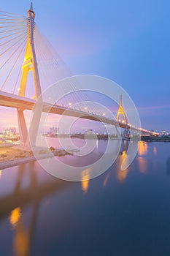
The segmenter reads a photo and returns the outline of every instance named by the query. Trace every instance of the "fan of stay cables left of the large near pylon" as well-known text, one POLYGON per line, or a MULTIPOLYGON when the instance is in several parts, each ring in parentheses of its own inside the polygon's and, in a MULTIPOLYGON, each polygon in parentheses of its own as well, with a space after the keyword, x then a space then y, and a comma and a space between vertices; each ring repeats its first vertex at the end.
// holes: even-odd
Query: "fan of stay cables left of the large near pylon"
POLYGON ((28 18, 0 11, 0 90, 18 94, 28 18))

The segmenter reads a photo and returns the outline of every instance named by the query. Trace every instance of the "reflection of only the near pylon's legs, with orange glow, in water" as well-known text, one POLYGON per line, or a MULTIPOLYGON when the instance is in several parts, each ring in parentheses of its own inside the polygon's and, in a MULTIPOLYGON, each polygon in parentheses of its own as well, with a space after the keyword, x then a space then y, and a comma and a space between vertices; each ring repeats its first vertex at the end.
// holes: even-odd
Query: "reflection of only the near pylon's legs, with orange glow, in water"
MULTIPOLYGON (((30 190, 35 192, 37 187, 37 177, 36 171, 34 168, 35 163, 31 162, 28 164, 29 167, 29 177, 30 183, 28 186, 28 193, 30 190)), ((15 189, 13 195, 15 197, 21 197, 23 194, 22 182, 23 177, 26 175, 26 168, 25 165, 18 166, 18 177, 15 184, 15 189)), ((32 214, 31 214, 31 221, 28 226, 23 221, 23 214, 21 207, 16 207, 11 211, 9 222, 12 227, 15 229, 15 234, 13 238, 13 252, 15 256, 27 256, 29 255, 30 248, 31 248, 31 241, 34 234, 34 227, 36 223, 36 215, 38 212, 39 200, 36 200, 36 195, 34 195, 34 199, 32 200, 32 214)))

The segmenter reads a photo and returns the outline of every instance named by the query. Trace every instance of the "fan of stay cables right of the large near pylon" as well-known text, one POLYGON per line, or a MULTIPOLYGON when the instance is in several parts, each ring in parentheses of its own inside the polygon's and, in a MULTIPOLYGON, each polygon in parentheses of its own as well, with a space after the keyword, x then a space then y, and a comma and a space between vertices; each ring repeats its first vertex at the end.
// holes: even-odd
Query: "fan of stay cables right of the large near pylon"
MULTIPOLYGON (((48 42, 48 40, 42 35, 37 26, 35 26, 34 45, 42 91, 47 89, 47 87, 53 83, 73 75, 53 46, 50 45, 50 42, 48 42)), ((80 105, 78 104, 76 106, 77 110, 98 113, 98 115, 101 115, 102 111, 100 113, 100 110, 96 108, 93 103, 90 103, 93 102, 93 100, 91 99, 89 92, 80 91, 79 83, 80 81, 76 79, 74 80, 74 84, 71 83, 70 80, 63 80, 63 87, 60 87, 60 89, 62 90, 61 94, 65 96, 58 100, 56 104, 74 108, 72 105, 82 102, 80 105), (68 94, 68 88, 72 91, 71 94, 68 94)), ((53 99, 55 99, 55 95, 53 95, 53 99)))

